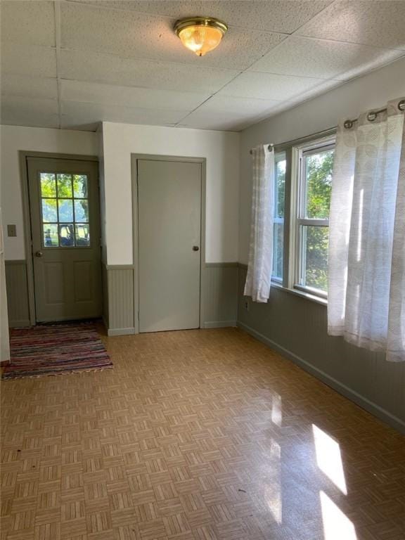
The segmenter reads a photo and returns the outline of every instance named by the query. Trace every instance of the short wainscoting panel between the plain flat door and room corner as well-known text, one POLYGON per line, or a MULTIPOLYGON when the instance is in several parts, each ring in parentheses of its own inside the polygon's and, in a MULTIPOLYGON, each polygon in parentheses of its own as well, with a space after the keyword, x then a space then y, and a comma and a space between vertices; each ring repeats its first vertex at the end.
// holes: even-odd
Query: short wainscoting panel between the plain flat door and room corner
POLYGON ((238 263, 205 264, 205 279, 201 291, 203 328, 236 326, 238 314, 238 263))

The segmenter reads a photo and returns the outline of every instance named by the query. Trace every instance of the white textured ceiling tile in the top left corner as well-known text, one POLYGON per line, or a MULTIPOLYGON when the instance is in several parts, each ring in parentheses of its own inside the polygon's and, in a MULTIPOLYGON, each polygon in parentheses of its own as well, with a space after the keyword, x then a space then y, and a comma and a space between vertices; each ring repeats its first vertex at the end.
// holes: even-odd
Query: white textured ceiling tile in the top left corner
POLYGON ((1 41, 55 46, 55 15, 51 1, 1 2, 1 41))

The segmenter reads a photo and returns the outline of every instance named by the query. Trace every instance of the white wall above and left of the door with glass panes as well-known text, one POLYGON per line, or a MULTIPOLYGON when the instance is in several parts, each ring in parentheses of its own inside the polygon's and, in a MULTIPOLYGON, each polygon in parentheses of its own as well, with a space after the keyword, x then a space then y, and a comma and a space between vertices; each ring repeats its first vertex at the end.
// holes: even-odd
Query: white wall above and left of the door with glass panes
POLYGON ((21 198, 20 162, 18 151, 31 150, 64 154, 98 154, 98 134, 90 131, 70 131, 41 127, 0 127, 1 201, 4 224, 6 260, 25 259, 23 236, 23 203, 21 198), (17 236, 6 236, 7 224, 17 226, 17 236))

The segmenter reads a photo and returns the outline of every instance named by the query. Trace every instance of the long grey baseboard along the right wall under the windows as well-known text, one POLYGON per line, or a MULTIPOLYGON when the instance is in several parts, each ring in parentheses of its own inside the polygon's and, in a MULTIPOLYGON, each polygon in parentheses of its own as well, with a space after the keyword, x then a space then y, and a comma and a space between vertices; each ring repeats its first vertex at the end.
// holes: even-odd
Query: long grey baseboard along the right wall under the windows
POLYGON ((252 335, 253 338, 256 338, 257 340, 264 343, 264 345, 267 345, 271 349, 274 349, 276 352, 283 354, 283 356, 293 361, 294 364, 297 364, 297 366, 300 366, 300 368, 304 369, 304 371, 307 371, 311 375, 314 375, 314 377, 333 388, 333 390, 336 390, 336 392, 339 392, 339 394, 342 394, 343 396, 347 397, 347 399, 354 401, 356 405, 361 406, 361 408, 368 411, 368 413, 373 414, 373 416, 377 416, 377 418, 380 418, 380 420, 383 420, 383 422, 387 423, 392 428, 398 430, 405 435, 405 422, 401 420, 401 418, 398 418, 397 416, 394 416, 388 411, 385 411, 385 409, 376 405, 375 403, 373 403, 373 401, 370 401, 366 397, 363 397, 361 394, 355 392, 348 386, 343 385, 335 378, 330 377, 328 373, 325 373, 321 369, 312 366, 311 364, 309 364, 309 362, 302 359, 300 356, 297 356, 297 354, 289 351, 288 349, 285 349, 284 347, 278 345, 276 342, 270 340, 269 338, 266 338, 265 335, 257 332, 257 330, 254 330, 254 328, 251 328, 247 324, 238 321, 237 326, 238 328, 241 328, 242 330, 245 330, 245 332, 247 332, 248 334, 252 335))

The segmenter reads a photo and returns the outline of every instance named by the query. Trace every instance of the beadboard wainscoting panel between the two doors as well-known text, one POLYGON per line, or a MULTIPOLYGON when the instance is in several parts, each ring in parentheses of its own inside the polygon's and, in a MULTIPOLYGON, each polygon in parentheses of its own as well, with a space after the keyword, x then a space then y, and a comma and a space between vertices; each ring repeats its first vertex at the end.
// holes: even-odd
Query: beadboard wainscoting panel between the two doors
POLYGON ((103 292, 108 335, 134 334, 134 266, 103 265, 103 292))

